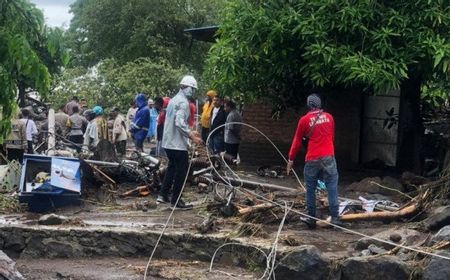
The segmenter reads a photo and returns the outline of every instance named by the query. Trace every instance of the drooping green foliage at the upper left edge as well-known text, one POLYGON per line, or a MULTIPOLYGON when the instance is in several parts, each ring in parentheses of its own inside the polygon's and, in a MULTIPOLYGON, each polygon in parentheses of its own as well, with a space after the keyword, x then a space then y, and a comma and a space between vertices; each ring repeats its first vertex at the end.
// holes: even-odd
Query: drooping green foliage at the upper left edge
POLYGON ((18 85, 45 95, 50 87, 47 65, 56 70, 68 61, 61 31, 44 25, 42 12, 26 0, 0 0, 0 143, 10 128, 18 85))

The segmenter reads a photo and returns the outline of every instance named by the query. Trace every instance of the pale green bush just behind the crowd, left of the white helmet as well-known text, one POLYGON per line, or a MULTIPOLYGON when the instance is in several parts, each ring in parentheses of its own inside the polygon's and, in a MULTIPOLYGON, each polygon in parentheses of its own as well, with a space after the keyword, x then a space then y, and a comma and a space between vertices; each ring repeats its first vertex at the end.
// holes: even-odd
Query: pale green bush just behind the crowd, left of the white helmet
POLYGON ((85 98, 89 106, 119 107, 125 111, 136 93, 149 97, 174 94, 185 67, 173 68, 165 60, 153 62, 149 58, 120 65, 114 59, 103 60, 95 67, 67 69, 55 80, 49 99, 55 107, 65 104, 71 96, 85 98))

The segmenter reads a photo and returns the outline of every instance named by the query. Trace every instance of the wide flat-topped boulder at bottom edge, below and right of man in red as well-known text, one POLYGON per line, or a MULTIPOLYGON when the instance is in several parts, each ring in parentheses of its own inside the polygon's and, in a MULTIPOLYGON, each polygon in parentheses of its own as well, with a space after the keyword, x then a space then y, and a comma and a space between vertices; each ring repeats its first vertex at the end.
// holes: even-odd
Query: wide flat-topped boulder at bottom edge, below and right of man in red
POLYGON ((394 256, 353 257, 341 265, 341 280, 407 280, 411 269, 394 256))

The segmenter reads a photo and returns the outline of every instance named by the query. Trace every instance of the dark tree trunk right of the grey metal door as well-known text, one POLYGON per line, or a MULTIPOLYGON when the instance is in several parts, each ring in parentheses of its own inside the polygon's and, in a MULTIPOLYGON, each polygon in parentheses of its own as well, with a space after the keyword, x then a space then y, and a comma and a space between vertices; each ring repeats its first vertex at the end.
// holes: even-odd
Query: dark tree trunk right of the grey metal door
POLYGON ((397 143, 397 168, 416 174, 422 171, 422 137, 424 128, 420 110, 421 80, 411 78, 400 88, 400 112, 397 143))

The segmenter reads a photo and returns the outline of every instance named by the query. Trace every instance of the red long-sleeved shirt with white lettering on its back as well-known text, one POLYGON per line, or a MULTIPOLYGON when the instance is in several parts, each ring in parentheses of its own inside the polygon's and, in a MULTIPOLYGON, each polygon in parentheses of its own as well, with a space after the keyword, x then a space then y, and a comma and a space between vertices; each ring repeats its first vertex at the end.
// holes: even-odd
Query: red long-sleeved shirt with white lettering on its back
POLYGON ((315 126, 312 127, 318 113, 318 110, 310 111, 298 121, 297 130, 289 150, 290 160, 295 159, 302 146, 302 138, 311 129, 305 161, 334 156, 334 119, 330 114, 321 112, 315 126))

